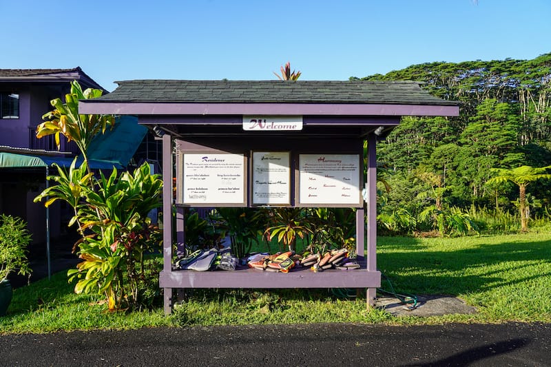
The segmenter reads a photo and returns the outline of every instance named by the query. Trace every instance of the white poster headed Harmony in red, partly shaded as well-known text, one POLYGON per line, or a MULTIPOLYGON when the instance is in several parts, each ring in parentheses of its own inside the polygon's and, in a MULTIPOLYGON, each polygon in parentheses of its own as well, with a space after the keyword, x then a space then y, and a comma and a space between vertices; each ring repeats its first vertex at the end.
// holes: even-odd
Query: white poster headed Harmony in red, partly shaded
POLYGON ((300 154, 302 205, 361 205, 359 154, 300 154))

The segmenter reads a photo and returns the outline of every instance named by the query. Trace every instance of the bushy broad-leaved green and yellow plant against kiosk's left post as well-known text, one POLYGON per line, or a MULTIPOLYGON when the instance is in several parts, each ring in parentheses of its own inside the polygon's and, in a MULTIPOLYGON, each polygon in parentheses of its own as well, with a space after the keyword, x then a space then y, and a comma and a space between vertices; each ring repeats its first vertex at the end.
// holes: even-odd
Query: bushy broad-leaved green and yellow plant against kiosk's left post
POLYGON ((147 163, 134 174, 100 171, 100 178, 86 174, 86 162, 79 168, 75 163, 76 158, 67 172, 57 167, 59 176, 48 176, 57 185, 34 199, 48 198, 46 206, 63 200, 74 209, 70 224, 79 225, 83 259, 67 273, 76 282, 74 291, 104 294, 110 311, 143 306, 144 255, 160 249, 160 231, 147 214, 161 205, 163 181, 147 163))

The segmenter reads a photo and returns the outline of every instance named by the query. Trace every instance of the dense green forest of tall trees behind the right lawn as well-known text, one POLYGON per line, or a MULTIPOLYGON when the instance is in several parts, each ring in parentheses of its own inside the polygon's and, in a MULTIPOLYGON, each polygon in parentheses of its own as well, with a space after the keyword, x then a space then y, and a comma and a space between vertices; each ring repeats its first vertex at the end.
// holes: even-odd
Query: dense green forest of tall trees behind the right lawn
MULTIPOLYGON (((518 188, 488 185, 491 169, 551 164, 551 53, 533 60, 424 63, 363 80, 413 80, 435 96, 459 101, 460 115, 404 117, 377 146, 393 190, 387 213, 417 218, 428 205, 518 212, 518 188), (426 180, 426 173, 437 180, 426 180)), ((551 184, 530 186, 532 218, 550 205, 551 184)))

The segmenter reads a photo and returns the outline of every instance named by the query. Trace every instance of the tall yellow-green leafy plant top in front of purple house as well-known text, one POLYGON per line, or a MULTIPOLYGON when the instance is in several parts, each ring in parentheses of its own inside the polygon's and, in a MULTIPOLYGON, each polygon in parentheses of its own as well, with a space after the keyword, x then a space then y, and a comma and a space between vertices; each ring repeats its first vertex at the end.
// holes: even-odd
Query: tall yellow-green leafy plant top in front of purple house
MULTIPOLYGON (((102 90, 87 88, 83 91, 77 81, 71 82, 71 92, 65 94, 65 103, 61 98, 55 98, 50 101, 54 110, 44 114, 43 120, 47 120, 37 126, 37 138, 54 135, 57 149, 60 149, 59 136, 63 135, 67 141, 74 141, 83 155, 83 159, 88 163, 87 151, 94 136, 99 132, 102 134, 108 125, 111 127, 115 123, 112 115, 98 114, 79 114, 79 100, 101 97, 102 90)), ((90 172, 90 165, 87 164, 90 172)))

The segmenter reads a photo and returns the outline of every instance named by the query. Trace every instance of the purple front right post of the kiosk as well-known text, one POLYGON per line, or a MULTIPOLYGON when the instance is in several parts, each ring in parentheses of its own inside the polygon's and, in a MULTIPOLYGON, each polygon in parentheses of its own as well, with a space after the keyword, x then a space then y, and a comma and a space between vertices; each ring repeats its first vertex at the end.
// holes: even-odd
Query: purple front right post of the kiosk
MULTIPOLYGON (((367 140, 367 270, 377 271, 377 140, 367 140)), ((367 289, 367 305, 375 306, 376 288, 367 289)))

